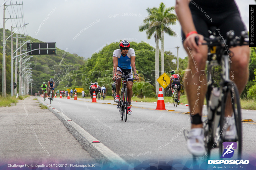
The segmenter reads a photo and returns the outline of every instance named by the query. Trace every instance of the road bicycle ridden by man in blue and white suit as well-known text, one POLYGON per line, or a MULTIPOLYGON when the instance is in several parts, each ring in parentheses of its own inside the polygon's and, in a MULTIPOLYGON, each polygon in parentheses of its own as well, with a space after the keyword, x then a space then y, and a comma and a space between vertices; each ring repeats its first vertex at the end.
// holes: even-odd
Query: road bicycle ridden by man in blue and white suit
MULTIPOLYGON (((125 122, 127 121, 127 113, 128 113, 128 96, 127 96, 127 85, 126 83, 128 82, 127 80, 130 78, 131 74, 124 75, 123 74, 116 74, 120 75, 121 77, 117 79, 122 79, 122 88, 121 88, 121 93, 120 93, 120 101, 117 104, 117 109, 119 109, 121 120, 124 120, 125 122)), ((132 78, 134 79, 134 78, 132 78)))

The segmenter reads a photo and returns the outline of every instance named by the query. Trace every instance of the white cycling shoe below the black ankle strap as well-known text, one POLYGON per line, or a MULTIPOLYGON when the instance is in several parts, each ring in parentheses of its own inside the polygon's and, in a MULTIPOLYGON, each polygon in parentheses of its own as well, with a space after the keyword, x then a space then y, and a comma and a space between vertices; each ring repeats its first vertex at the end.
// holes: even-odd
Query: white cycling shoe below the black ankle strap
POLYGON ((195 156, 202 156, 206 153, 204 142, 204 129, 193 128, 188 133, 188 151, 195 156))

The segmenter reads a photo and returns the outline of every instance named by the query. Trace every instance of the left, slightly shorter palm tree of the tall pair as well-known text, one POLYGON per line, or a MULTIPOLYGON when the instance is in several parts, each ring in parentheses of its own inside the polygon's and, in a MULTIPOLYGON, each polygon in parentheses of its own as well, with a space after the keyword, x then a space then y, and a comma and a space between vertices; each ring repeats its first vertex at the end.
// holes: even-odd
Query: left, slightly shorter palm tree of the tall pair
MULTIPOLYGON (((155 7, 154 7, 155 8, 155 7)), ((153 9, 153 8, 152 8, 153 9)), ((139 27, 139 31, 145 31, 147 34, 147 39, 150 39, 151 36, 154 34, 155 42, 156 42, 156 51, 155 51, 155 74, 159 75, 159 46, 158 41, 161 37, 161 24, 154 22, 154 16, 152 15, 152 9, 147 8, 146 11, 148 12, 148 16, 143 20, 143 25, 139 27)), ((159 84, 156 81, 157 76, 155 77, 155 91, 156 95, 158 95, 158 87, 159 84)))

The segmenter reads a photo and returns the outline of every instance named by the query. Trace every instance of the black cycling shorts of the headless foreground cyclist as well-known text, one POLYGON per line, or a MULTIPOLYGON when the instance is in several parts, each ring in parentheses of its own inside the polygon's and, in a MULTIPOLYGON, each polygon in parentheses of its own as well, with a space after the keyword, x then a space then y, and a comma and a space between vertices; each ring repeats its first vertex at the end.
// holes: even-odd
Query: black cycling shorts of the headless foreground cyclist
MULTIPOLYGON (((225 0, 224 0, 225 1, 225 0)), ((208 9, 209 10, 209 9, 208 9)), ((241 36, 242 31, 246 31, 247 29, 241 20, 238 9, 227 8, 222 12, 212 12, 200 10, 191 11, 194 25, 196 27, 196 31, 198 34, 203 35, 204 37, 209 37, 210 34, 208 30, 210 27, 215 26, 218 31, 216 31, 216 35, 223 36, 225 40, 227 40, 227 32, 230 30, 234 31, 235 36, 241 36), (207 16, 204 15, 207 14, 207 16), (210 17, 210 18, 209 18, 210 17)), ((185 34, 182 31, 183 41, 186 39, 185 34)))

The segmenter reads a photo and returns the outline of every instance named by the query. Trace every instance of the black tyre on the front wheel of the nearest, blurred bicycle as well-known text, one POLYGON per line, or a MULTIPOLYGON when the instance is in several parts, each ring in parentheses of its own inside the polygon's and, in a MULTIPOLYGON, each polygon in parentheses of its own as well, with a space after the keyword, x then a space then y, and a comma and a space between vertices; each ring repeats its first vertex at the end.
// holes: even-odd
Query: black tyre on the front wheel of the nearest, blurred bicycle
MULTIPOLYGON (((238 147, 237 147, 237 151, 238 151, 238 158, 241 157, 242 155, 242 123, 241 123, 241 105, 240 105, 240 95, 238 92, 238 88, 236 86, 236 84, 233 83, 228 83, 227 84, 227 90, 226 90, 226 95, 224 95, 225 97, 225 102, 222 103, 222 107, 223 107, 223 112, 225 112, 225 106, 226 106, 226 102, 227 102, 227 95, 230 94, 231 97, 231 101, 233 101, 232 103, 235 102, 235 104, 232 104, 232 110, 233 110, 233 114, 234 114, 234 119, 235 119, 235 125, 236 125, 236 132, 237 132, 237 139, 235 142, 238 142, 238 147), (232 93, 234 94, 234 98, 232 99, 232 93), (236 105, 236 106, 235 106, 236 105), (237 110, 236 110, 237 109, 237 110)), ((220 120, 220 127, 224 126, 225 123, 225 114, 221 114, 221 120, 220 120)), ((224 138, 221 137, 221 141, 225 142, 224 138)), ((223 152, 223 145, 222 143, 220 144, 219 147, 219 153, 222 154, 223 152)))

